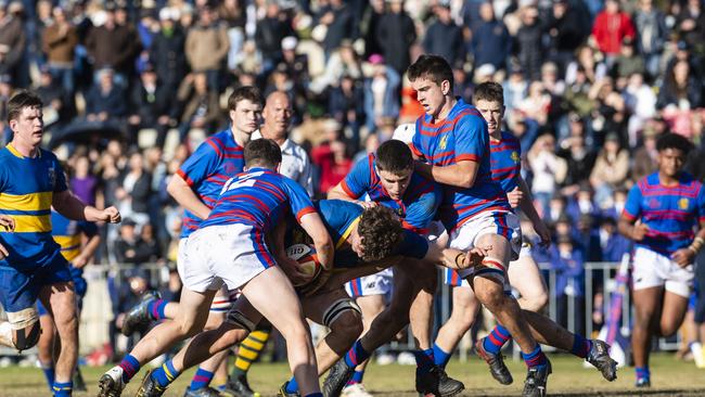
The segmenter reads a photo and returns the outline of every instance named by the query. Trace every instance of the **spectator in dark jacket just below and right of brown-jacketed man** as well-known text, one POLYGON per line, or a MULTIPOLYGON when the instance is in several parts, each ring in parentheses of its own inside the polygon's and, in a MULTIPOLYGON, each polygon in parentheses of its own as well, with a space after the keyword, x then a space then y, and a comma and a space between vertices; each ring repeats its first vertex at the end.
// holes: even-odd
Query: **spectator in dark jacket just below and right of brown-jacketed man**
POLYGON ((174 97, 158 80, 156 72, 148 64, 140 74, 140 80, 132 87, 130 114, 127 117, 128 143, 136 145, 141 129, 156 130, 156 146, 163 148, 169 126, 174 120, 174 97))

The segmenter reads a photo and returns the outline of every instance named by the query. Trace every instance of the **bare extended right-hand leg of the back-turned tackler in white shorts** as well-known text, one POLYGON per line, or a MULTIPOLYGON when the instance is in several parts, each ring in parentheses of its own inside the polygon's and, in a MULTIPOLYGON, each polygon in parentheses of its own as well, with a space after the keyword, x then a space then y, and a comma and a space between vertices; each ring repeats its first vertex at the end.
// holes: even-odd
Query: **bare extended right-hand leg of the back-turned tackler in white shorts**
POLYGON ((242 287, 242 294, 284 336, 289 364, 302 395, 320 394, 310 332, 296 292, 284 272, 275 266, 266 269, 242 287))

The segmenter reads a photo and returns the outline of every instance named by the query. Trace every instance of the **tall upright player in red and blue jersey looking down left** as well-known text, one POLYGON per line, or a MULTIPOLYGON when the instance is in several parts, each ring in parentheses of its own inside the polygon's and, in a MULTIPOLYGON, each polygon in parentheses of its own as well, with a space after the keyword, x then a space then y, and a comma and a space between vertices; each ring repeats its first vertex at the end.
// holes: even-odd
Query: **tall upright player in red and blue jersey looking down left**
POLYGON ((444 184, 439 214, 450 236, 449 246, 491 246, 482 266, 460 276, 520 346, 528 367, 524 395, 544 395, 550 362, 531 336, 518 304, 504 294, 507 266, 518 255, 521 236, 514 235, 509 223, 515 215, 507 194, 491 179, 487 123, 475 107, 452 95, 452 69, 443 57, 422 55, 408 73, 425 111, 416 120, 411 149, 421 159, 416 170, 444 184))

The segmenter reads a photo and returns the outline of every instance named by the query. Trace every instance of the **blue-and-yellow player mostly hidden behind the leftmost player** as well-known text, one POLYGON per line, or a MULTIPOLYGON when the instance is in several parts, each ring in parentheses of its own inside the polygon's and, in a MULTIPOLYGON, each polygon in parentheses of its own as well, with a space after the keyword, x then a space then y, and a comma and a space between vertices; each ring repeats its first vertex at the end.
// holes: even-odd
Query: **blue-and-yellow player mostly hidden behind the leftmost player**
MULTIPOLYGON (((68 268, 76 289, 76 311, 80 318, 84 296, 88 289, 86 279, 84 279, 84 267, 95 254, 101 236, 98 234, 95 223, 70 220, 55 210, 51 212, 51 235, 61 246, 61 255, 69 264, 68 268), (85 243, 84 239, 86 239, 85 243)), ((41 302, 37 302, 37 312, 42 330, 37 343, 37 358, 47 377, 49 388, 52 388, 54 384, 54 346, 57 346, 55 344, 56 329, 53 318, 49 316, 41 302)), ((76 366, 73 381, 75 390, 86 392, 86 383, 78 366, 76 366)))

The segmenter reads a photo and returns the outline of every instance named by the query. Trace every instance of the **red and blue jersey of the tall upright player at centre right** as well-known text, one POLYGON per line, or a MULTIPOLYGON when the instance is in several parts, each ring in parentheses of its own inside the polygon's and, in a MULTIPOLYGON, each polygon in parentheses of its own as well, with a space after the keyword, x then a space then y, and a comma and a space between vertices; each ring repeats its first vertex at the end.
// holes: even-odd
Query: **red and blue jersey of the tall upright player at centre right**
POLYGON ((462 99, 458 99, 444 120, 434 121, 427 114, 419 117, 411 150, 434 166, 445 167, 463 161, 479 165, 473 187, 444 185, 440 219, 449 231, 486 210, 511 212, 507 194, 492 181, 487 123, 462 99))

